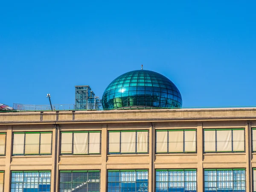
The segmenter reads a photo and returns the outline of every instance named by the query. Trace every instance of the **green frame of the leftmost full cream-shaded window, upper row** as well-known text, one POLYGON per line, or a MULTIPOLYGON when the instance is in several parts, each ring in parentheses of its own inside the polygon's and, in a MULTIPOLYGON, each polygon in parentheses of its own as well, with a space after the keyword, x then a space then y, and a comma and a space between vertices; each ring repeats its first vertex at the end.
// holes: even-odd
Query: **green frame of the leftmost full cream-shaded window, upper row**
POLYGON ((41 148, 41 134, 50 133, 52 134, 52 131, 37 131, 37 132, 12 132, 12 156, 28 156, 28 155, 52 155, 52 139, 51 136, 51 153, 47 154, 41 154, 40 148, 41 148), (14 142, 14 134, 24 134, 24 147, 23 147, 23 154, 13 154, 13 142, 14 142), (25 154, 25 148, 26 148, 26 134, 39 134, 39 151, 38 154, 25 154))

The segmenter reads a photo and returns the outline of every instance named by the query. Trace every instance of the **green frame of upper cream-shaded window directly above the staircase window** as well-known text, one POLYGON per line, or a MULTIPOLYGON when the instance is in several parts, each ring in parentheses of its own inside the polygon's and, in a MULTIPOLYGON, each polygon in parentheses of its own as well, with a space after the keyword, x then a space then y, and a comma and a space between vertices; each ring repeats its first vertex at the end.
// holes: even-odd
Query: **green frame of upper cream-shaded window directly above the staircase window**
POLYGON ((101 155, 102 151, 102 131, 61 131, 60 132, 60 155, 101 155), (61 141, 62 141, 62 133, 72 133, 72 152, 71 153, 61 153, 61 141), (88 143, 87 150, 88 153, 85 154, 74 154, 74 133, 88 133, 88 143), (90 145, 90 133, 99 133, 99 153, 89 153, 89 145, 90 145))

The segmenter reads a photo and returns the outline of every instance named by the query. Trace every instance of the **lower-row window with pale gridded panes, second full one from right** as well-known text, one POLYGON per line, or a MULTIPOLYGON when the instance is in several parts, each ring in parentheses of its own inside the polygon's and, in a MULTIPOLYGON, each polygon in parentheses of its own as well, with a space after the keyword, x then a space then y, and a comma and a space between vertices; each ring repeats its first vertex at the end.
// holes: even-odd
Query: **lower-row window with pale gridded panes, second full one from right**
POLYGON ((196 192, 196 169, 157 169, 156 192, 196 192))

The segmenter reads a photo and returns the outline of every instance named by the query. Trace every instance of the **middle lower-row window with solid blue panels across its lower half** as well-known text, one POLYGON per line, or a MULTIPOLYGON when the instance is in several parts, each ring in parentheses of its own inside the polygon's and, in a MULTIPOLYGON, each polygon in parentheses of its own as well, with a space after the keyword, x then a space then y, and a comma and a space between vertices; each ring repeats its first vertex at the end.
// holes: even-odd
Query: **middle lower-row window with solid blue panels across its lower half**
POLYGON ((108 192, 147 192, 148 170, 108 170, 108 192))

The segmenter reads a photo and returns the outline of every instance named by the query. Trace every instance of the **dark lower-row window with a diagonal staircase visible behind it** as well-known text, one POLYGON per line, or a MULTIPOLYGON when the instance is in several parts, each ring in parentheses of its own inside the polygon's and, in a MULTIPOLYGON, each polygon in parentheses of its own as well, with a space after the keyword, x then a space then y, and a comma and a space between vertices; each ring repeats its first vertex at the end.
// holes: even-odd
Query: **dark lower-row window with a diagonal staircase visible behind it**
POLYGON ((59 192, 99 192, 99 170, 60 171, 59 192))

